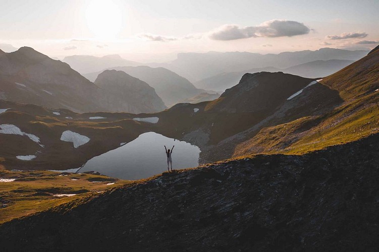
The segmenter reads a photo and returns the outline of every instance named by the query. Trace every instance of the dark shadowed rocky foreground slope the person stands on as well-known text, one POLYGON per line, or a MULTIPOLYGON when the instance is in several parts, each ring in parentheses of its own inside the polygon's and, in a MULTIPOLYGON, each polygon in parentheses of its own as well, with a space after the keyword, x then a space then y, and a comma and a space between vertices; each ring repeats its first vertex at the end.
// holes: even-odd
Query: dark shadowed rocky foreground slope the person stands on
POLYGON ((373 251, 379 135, 164 173, 0 226, 2 251, 373 251))

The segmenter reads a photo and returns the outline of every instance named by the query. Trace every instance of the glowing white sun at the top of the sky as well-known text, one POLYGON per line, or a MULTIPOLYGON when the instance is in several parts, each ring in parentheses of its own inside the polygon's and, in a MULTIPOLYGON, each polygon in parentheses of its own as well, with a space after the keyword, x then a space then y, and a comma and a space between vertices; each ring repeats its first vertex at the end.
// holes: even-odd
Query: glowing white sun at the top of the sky
POLYGON ((120 8, 110 0, 91 0, 86 18, 89 29, 97 38, 112 39, 121 30, 120 8))

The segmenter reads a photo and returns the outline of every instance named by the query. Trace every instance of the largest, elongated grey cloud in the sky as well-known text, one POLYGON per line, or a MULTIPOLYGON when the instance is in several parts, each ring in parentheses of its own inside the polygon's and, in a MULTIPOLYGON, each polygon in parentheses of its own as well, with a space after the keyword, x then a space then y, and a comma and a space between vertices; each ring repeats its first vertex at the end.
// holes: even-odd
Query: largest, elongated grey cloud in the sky
POLYGON ((255 37, 291 37, 308 34, 310 29, 303 23, 289 20, 270 20, 258 26, 239 27, 224 25, 210 33, 213 40, 234 40, 255 37))

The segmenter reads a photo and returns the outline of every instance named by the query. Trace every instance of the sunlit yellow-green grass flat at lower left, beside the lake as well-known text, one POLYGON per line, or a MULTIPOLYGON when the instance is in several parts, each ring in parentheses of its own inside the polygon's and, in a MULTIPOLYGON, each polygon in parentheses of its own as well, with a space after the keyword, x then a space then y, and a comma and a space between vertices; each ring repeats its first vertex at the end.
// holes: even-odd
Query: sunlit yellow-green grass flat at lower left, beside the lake
POLYGON ((95 197, 102 191, 131 183, 102 175, 63 173, 52 171, 9 171, 0 166, 1 178, 22 178, 26 181, 0 182, 0 223, 25 215, 44 211, 86 197, 95 197), (78 178, 78 180, 71 180, 78 178), (107 179, 90 182, 88 179, 107 179), (107 183, 114 182, 112 185, 107 183), (38 195, 38 193, 40 195, 38 195), (45 193, 46 195, 41 195, 45 193), (57 197, 56 194, 77 194, 57 197))

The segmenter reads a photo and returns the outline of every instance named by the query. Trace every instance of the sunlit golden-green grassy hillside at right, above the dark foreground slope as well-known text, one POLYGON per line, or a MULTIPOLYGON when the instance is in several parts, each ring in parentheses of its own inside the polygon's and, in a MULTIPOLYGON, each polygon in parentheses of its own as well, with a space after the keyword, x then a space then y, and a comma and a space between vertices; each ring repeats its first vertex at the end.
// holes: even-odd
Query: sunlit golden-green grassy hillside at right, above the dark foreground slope
POLYGON ((233 156, 251 153, 305 153, 355 141, 379 132, 379 51, 323 79, 342 101, 326 113, 304 116, 255 131, 233 156))

